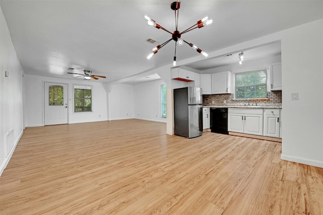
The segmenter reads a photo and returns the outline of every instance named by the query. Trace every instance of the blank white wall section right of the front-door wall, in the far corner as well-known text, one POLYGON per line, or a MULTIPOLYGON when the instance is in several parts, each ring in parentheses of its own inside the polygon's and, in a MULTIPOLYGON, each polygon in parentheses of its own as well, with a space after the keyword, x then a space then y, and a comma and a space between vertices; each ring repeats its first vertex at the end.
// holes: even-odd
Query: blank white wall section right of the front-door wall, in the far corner
POLYGON ((133 85, 116 84, 111 86, 109 98, 109 120, 133 119, 133 85))

